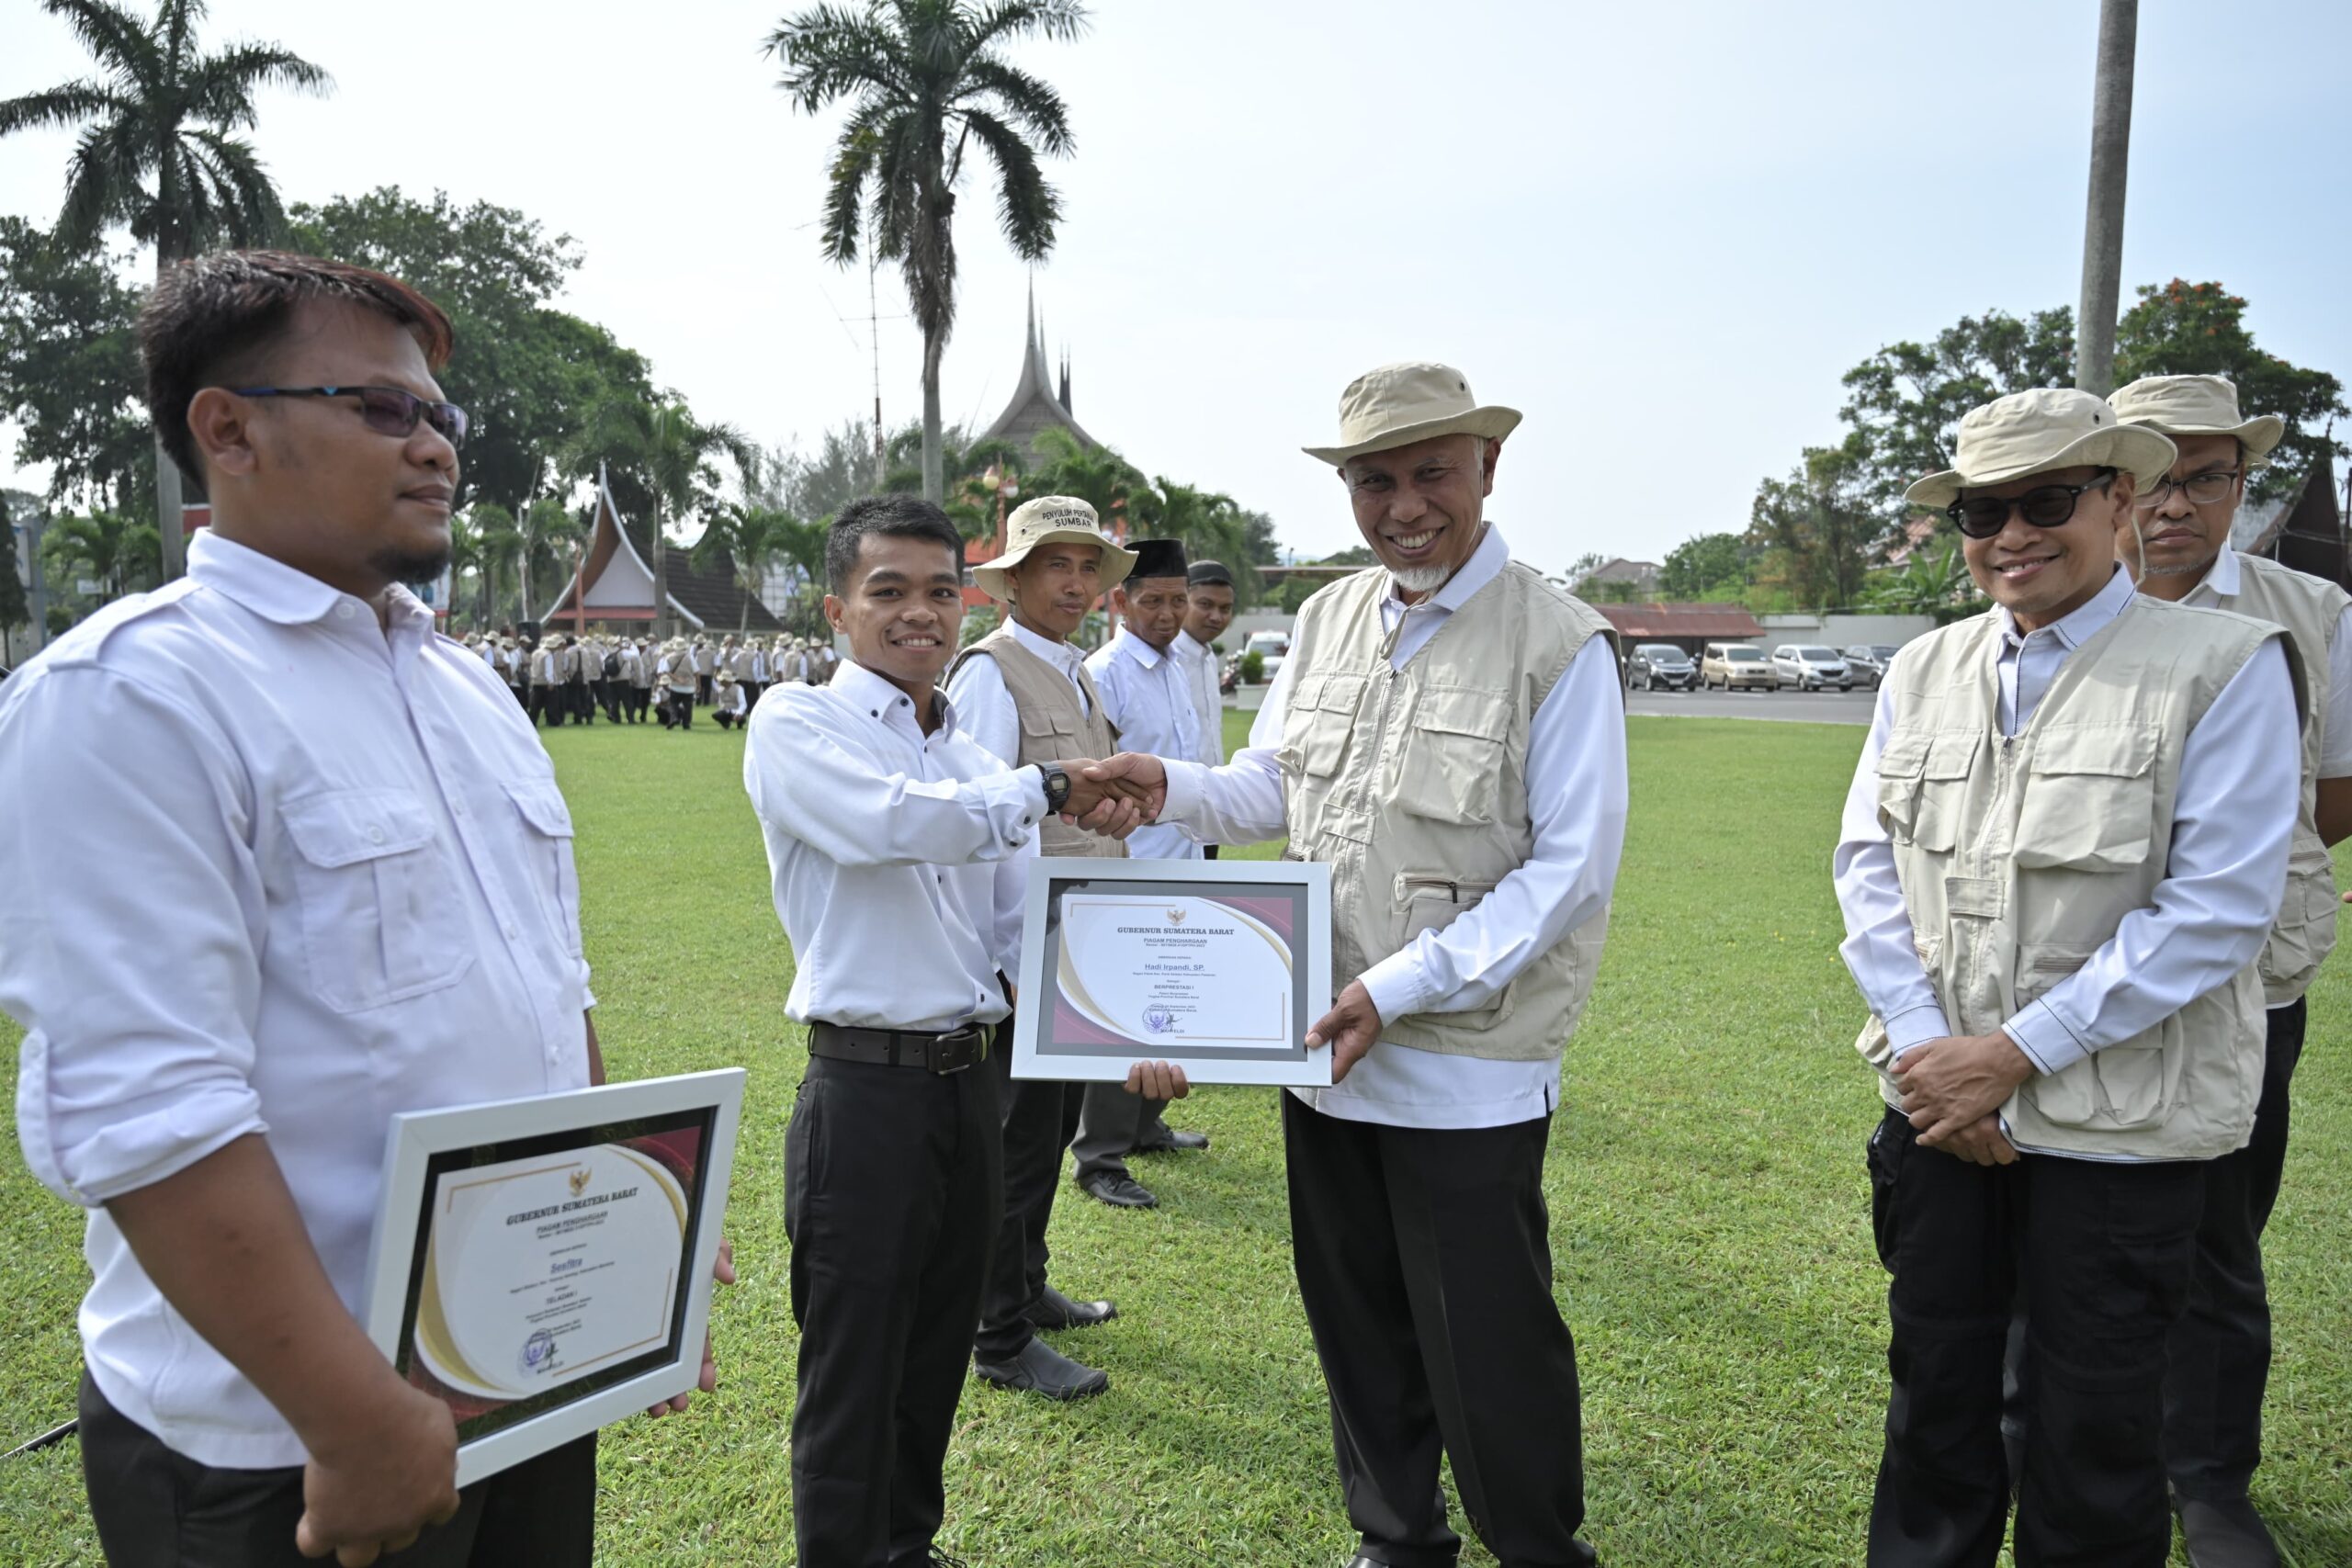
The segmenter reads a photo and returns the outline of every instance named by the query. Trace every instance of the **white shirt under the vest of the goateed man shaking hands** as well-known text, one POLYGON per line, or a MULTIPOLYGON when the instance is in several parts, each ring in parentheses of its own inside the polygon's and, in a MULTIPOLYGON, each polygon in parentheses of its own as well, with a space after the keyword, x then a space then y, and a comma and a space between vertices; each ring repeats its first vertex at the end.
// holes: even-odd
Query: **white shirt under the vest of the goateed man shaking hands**
MULTIPOLYGON (((1406 607, 1395 590, 1381 599, 1381 623, 1395 632, 1392 668, 1402 670, 1470 595, 1510 562, 1501 529, 1486 536, 1454 581, 1406 607), (1402 630, 1399 630, 1402 621, 1402 630)), ((1296 661, 1284 661, 1249 729, 1249 745, 1228 766, 1169 764, 1162 820, 1183 823, 1211 844, 1249 844, 1284 827, 1282 715, 1296 661)), ((1522 969, 1609 905, 1625 849, 1625 698, 1616 656, 1595 637, 1529 719, 1526 811, 1536 849, 1477 907, 1442 931, 1364 971, 1381 1018, 1454 1013, 1491 1001, 1522 969)), ((1350 1121, 1414 1128, 1510 1126, 1545 1117, 1559 1103, 1559 1056, 1491 1063, 1381 1041, 1331 1088, 1294 1088, 1301 1100, 1350 1121)))

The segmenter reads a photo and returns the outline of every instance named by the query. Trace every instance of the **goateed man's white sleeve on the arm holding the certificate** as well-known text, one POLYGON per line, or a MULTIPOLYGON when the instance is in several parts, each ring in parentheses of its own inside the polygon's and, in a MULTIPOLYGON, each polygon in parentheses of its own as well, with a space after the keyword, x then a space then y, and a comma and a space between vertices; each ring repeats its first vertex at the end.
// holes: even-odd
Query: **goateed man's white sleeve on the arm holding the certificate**
POLYGON ((1383 1020, 1486 1006, 1609 907, 1625 851, 1625 703, 1604 637, 1585 642, 1529 719, 1534 851, 1486 898, 1364 971, 1383 1020))

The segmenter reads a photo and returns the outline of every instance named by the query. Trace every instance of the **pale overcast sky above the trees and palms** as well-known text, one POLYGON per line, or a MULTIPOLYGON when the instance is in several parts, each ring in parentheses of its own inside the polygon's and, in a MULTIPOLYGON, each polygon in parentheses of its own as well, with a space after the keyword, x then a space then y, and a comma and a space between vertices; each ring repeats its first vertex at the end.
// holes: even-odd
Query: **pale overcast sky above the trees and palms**
MULTIPOLYGON (((1308 555, 1355 531, 1298 447, 1334 440, 1357 371, 1437 357, 1526 414, 1491 501, 1522 557, 1658 559, 1743 529, 1759 477, 1837 437, 1837 378, 1882 343, 2074 303, 2096 12, 1103 0, 1077 45, 1023 52, 1077 134, 1051 167, 1047 334, 1091 435, 1308 555)), ((811 444, 873 407, 866 273, 816 254, 840 113, 776 89, 781 14, 214 0, 207 26, 336 78, 261 101, 289 202, 397 183, 520 207, 583 244, 564 308, 696 411, 811 444)), ((2343 0, 2143 7, 2126 301, 2220 280, 2265 348, 2352 376, 2345 61, 2343 0)), ((35 0, 0 0, 0 96, 85 68, 35 0)), ((0 212, 54 221, 68 148, 0 141, 0 212)), ((962 205, 946 357, 948 418, 974 425, 1014 390, 1028 284, 993 205, 962 205)), ((882 310, 906 313, 889 275, 882 310)), ((896 425, 920 343, 880 334, 896 425)))

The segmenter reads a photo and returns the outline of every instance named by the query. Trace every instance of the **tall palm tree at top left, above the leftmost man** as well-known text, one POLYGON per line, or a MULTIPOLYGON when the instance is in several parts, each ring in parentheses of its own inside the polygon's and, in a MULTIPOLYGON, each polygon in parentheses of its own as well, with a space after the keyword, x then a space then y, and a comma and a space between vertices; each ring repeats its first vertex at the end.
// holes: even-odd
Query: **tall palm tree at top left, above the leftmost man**
MULTIPOLYGON (((155 247, 155 275, 212 244, 259 244, 285 230, 285 209, 254 146, 254 94, 294 87, 325 94, 334 78, 278 45, 205 54, 195 24, 205 0, 158 0, 141 21, 115 0, 42 0, 99 66, 99 75, 0 103, 0 136, 80 129, 66 176, 59 242, 96 247, 113 223, 155 247)), ((155 531, 162 576, 181 571, 179 468, 155 444, 155 531)))

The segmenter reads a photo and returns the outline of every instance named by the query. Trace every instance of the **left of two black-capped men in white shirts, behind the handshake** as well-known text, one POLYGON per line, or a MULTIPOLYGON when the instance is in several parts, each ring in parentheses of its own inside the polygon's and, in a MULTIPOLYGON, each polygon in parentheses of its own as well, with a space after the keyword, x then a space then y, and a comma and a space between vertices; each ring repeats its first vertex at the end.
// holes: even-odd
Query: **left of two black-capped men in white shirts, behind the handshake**
MULTIPOLYGON (((1136 567, 1110 590, 1120 611, 1120 635, 1087 658, 1087 675, 1103 696, 1103 715, 1120 733, 1120 748, 1155 757, 1195 759, 1200 715, 1192 686, 1176 656, 1185 616, 1185 557, 1174 538, 1134 543, 1136 567)), ((1200 844, 1181 827, 1145 825, 1127 839, 1136 860, 1200 860, 1200 844)), ((1171 1128, 1160 1105, 1127 1093, 1120 1084, 1087 1084, 1070 1157, 1077 1187, 1112 1208, 1157 1208, 1160 1199, 1127 1168, 1129 1154, 1207 1150, 1207 1133, 1171 1128)))

